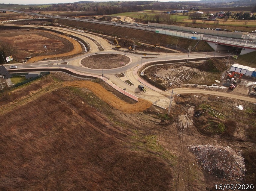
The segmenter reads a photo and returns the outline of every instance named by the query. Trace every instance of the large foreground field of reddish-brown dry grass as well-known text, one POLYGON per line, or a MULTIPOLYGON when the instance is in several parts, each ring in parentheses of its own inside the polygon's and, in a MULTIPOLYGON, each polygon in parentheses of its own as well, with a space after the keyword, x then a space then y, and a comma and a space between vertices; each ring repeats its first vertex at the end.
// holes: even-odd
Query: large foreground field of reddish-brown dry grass
MULTIPOLYGON (((40 88, 38 82, 16 90, 15 100, 40 88)), ((10 101, 1 102, 2 111, 2 103, 10 101)), ((172 188, 168 162, 146 151, 132 151, 133 133, 67 88, 44 93, 1 119, 0 190, 172 188)))

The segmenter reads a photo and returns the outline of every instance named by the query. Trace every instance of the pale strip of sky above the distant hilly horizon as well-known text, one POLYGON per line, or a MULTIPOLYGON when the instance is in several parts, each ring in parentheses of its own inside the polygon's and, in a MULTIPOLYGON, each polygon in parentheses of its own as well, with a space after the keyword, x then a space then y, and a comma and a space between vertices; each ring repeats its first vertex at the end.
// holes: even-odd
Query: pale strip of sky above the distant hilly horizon
MULTIPOLYGON (((9 0, 7 2, 1 2, 0 3, 5 3, 5 4, 51 4, 51 3, 74 3, 82 0, 44 0, 44 1, 35 1, 35 0, 9 0)), ((90 0, 88 0, 90 1, 90 0)), ((118 1, 118 0, 97 0, 99 1, 118 1)), ((120 1, 134 1, 134 0, 120 0, 120 1)), ((139 1, 145 1, 145 0, 139 0, 139 1)), ((170 0, 159 0, 160 2, 167 2, 170 0)), ((187 0, 177 0, 177 1, 187 1, 187 0)), ((190 1, 195 1, 195 0, 190 0, 190 1)))

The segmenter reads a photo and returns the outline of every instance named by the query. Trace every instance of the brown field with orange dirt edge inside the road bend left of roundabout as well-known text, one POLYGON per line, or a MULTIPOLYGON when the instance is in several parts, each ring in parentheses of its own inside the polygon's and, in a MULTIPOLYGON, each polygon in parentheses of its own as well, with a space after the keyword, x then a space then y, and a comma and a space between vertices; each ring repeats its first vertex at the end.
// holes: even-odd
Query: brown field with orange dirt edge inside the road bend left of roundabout
POLYGON ((1 30, 1 41, 16 47, 15 59, 22 62, 25 57, 33 57, 29 62, 45 58, 68 57, 82 51, 80 44, 65 35, 51 31, 17 29, 1 30), (47 47, 44 48, 44 45, 47 47))

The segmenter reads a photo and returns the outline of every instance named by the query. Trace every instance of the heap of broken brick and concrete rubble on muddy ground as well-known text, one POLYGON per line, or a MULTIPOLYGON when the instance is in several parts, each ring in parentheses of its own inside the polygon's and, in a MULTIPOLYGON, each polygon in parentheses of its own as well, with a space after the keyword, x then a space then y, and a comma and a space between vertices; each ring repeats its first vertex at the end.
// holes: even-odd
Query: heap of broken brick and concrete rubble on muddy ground
POLYGON ((188 148, 197 155, 198 162, 209 171, 209 174, 213 173, 230 181, 243 179, 244 159, 232 148, 215 145, 188 145, 188 148))

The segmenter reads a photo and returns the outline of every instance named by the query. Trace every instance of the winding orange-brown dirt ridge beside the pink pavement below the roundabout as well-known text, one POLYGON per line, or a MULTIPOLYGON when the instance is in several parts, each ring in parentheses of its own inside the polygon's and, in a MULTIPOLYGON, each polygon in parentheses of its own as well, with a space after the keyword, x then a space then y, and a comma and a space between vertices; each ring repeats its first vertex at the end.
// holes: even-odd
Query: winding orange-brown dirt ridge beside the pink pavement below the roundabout
POLYGON ((135 104, 128 104, 123 100, 120 100, 112 93, 105 90, 101 85, 91 81, 66 81, 63 83, 63 87, 74 86, 80 88, 87 88, 100 97, 111 107, 124 112, 140 112, 151 107, 152 103, 145 99, 139 99, 139 102, 135 104))

